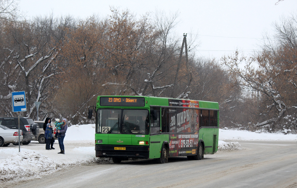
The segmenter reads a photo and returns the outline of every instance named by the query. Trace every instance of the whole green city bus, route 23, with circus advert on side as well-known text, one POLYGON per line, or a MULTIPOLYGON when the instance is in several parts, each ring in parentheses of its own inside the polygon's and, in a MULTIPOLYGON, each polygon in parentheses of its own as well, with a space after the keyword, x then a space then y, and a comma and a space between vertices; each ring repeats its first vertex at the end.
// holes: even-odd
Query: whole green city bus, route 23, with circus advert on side
MULTIPOLYGON (((91 107, 91 106, 90 106, 91 107)), ((89 107, 88 118, 93 110, 89 107)), ((98 96, 96 157, 119 163, 128 158, 187 156, 201 160, 218 148, 219 104, 152 96, 98 96)))

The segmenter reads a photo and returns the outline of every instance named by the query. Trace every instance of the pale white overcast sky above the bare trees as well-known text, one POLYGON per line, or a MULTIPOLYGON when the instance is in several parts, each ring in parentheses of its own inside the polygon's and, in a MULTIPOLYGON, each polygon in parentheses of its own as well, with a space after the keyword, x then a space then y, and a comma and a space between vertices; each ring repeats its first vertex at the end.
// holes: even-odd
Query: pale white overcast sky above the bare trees
POLYGON ((195 52, 198 56, 221 58, 236 49, 249 55, 259 49, 264 32, 273 34, 272 23, 279 18, 297 12, 296 0, 197 0, 197 1, 162 1, 162 0, 20 0, 20 9, 28 17, 36 15, 54 16, 73 15, 86 18, 93 14, 102 17, 110 15, 110 6, 129 9, 142 15, 155 12, 156 9, 166 13, 180 13, 180 23, 175 32, 199 34, 200 46, 195 52))

